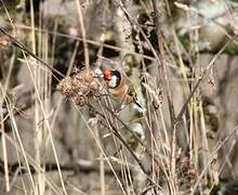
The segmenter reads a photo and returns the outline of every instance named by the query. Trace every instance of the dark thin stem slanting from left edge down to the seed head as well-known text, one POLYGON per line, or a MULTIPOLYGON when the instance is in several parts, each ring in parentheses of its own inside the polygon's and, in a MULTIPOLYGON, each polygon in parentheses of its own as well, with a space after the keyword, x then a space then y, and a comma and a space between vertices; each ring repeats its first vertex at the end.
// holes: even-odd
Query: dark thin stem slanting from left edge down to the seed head
POLYGON ((43 62, 40 57, 38 57, 36 54, 34 54, 31 51, 29 51, 29 49, 27 49, 24 44, 22 44, 19 41, 17 41, 14 37, 12 37, 11 35, 9 35, 2 27, 0 27, 0 32, 5 35, 6 37, 10 38, 10 40, 12 41, 13 46, 15 46, 16 48, 22 49, 23 51, 25 51, 28 55, 32 56, 34 58, 36 58, 37 61, 39 61, 43 66, 45 66, 47 68, 49 68, 50 70, 52 70, 53 73, 55 73, 56 75, 61 76, 62 78, 65 77, 64 74, 62 74, 61 72, 58 72, 57 69, 53 68, 52 66, 50 66, 49 64, 47 64, 45 62, 43 62))

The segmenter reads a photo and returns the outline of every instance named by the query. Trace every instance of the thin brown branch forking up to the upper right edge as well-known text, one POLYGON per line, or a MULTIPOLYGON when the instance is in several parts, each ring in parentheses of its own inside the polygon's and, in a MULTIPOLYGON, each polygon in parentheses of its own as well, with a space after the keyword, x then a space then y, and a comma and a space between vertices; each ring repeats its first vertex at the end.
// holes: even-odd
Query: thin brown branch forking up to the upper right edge
POLYGON ((181 112, 178 113, 177 117, 175 118, 174 123, 180 122, 182 119, 182 116, 187 107, 187 105, 190 102, 190 99, 193 98, 193 95, 195 94, 196 90, 198 89, 200 82, 202 81, 202 79, 208 75, 209 70, 211 70, 214 66, 215 61, 220 57, 220 55, 223 53, 223 51, 226 49, 227 46, 229 46, 234 40, 236 40, 238 36, 234 36, 232 39, 229 39, 221 49, 220 51, 213 56, 212 61, 209 63, 209 65, 207 66, 207 68, 201 73, 200 78, 198 79, 198 81, 196 82, 194 89, 191 90, 189 96, 187 98, 187 100, 185 101, 183 107, 181 108, 181 112))

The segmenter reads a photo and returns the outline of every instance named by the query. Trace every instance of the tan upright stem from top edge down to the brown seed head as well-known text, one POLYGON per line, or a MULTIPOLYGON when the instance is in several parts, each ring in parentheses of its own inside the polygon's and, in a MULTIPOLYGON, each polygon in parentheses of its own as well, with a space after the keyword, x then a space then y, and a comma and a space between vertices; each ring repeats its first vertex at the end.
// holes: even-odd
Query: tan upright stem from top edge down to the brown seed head
POLYGON ((81 10, 81 5, 79 3, 79 0, 76 0, 76 4, 77 4, 78 14, 79 14, 80 29, 81 29, 81 34, 82 34, 85 68, 90 69, 89 48, 88 48, 88 43, 85 41, 85 25, 84 25, 84 21, 82 17, 82 10, 81 10))

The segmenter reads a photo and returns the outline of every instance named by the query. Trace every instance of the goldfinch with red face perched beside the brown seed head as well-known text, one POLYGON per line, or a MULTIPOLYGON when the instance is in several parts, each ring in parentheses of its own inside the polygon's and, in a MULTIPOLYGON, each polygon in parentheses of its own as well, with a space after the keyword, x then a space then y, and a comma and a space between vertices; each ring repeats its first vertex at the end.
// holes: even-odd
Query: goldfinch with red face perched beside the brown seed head
POLYGON ((137 93, 125 74, 118 69, 105 69, 104 80, 106 81, 108 93, 120 103, 120 109, 131 103, 142 108, 137 100, 137 93))

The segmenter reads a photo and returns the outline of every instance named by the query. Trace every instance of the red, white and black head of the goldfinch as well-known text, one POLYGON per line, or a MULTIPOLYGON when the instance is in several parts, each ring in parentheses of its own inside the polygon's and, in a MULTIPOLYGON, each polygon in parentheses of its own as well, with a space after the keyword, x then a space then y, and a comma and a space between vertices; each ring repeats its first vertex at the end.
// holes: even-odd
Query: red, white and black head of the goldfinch
POLYGON ((117 88, 121 82, 121 73, 117 69, 106 69, 104 72, 104 80, 109 88, 117 88))

